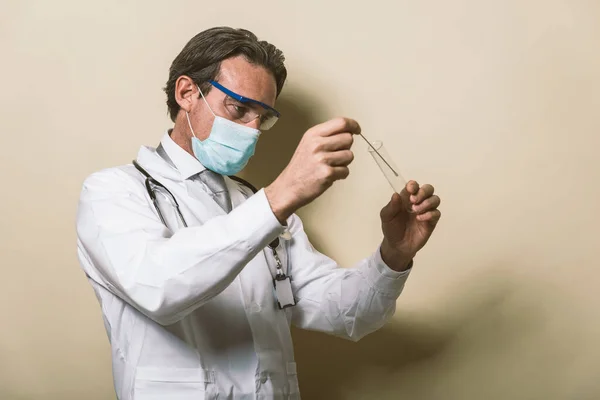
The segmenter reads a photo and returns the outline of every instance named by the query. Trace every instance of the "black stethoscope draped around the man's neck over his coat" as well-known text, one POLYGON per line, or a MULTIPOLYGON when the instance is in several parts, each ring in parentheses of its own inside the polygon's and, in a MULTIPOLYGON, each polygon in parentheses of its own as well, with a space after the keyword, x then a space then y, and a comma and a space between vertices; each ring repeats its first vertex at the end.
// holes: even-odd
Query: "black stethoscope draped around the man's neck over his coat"
MULTIPOLYGON (((181 221, 183 226, 187 228, 188 224, 185 220, 185 217, 181 213, 181 209, 179 208, 179 203, 177 202, 177 199, 175 198, 173 193, 171 193, 171 191, 169 189, 167 189, 165 187, 165 185, 163 185, 162 183, 160 183, 159 181, 154 179, 152 177, 152 175, 150 175, 150 173, 148 171, 146 171, 136 160, 133 160, 132 163, 133 163, 133 166, 142 175, 144 175, 144 177, 146 177, 146 180, 144 181, 144 186, 146 186, 146 191, 148 192, 148 195, 150 196, 150 199, 152 200, 152 203, 154 204, 154 208, 156 209, 156 212, 158 213, 158 216, 159 216, 161 222, 163 223, 163 225, 165 225, 167 228, 169 227, 167 225, 167 221, 165 220, 162 212, 160 211, 160 207, 158 205, 158 198, 156 197, 155 188, 153 186, 161 188, 161 190, 164 190, 164 192, 166 194, 168 194, 169 200, 172 202, 173 206, 175 207, 175 211, 177 212, 177 217, 179 218, 179 220, 181 221)), ((253 193, 257 192, 257 189, 254 186, 252 186, 249 182, 246 182, 244 179, 239 178, 237 176, 229 176, 229 178, 247 186, 248 188, 250 188, 252 190, 253 193)), ((286 240, 289 240, 291 238, 291 235, 288 231, 285 231, 284 234, 282 235, 282 237, 286 240)), ((273 258, 275 259, 275 264, 276 264, 276 276, 274 278, 274 282, 281 282, 281 281, 289 280, 288 279, 289 277, 283 271, 283 265, 282 265, 281 259, 279 258, 279 255, 277 254, 276 249, 278 246, 279 246, 279 237, 276 237, 275 240, 273 240, 271 243, 269 243, 269 248, 271 249, 271 252, 273 253, 273 258)), ((293 302, 293 304, 289 304, 286 306, 281 306, 281 304, 280 304, 280 308, 285 308, 285 307, 288 307, 291 305, 295 305, 295 301, 293 302)))

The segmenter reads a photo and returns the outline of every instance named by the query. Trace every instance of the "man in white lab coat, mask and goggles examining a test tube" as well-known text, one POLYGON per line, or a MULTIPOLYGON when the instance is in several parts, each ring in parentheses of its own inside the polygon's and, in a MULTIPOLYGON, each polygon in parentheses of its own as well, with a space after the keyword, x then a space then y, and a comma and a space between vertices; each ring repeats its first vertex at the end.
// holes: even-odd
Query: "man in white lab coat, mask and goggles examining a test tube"
POLYGON ((83 184, 78 254, 119 399, 300 398, 290 324, 358 340, 395 311, 440 218, 432 186, 392 197, 381 246, 354 268, 318 253, 294 214, 348 176, 356 121, 309 129, 264 189, 233 177, 279 117, 283 61, 245 30, 196 35, 165 88, 173 129, 83 184))

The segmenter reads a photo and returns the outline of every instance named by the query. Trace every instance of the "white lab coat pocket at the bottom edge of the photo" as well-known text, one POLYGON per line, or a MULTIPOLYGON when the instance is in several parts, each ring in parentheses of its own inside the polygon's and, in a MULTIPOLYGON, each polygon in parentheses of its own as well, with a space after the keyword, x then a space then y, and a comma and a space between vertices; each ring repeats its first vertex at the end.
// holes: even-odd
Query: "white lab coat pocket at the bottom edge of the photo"
POLYGON ((138 367, 134 400, 209 399, 213 373, 201 368, 138 367))

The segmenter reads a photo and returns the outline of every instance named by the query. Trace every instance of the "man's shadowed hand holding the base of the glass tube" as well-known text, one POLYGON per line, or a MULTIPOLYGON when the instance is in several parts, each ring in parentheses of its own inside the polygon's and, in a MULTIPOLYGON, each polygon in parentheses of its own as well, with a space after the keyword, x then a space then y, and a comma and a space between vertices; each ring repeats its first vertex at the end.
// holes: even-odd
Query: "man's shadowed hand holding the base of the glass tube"
POLYGON ((406 270, 433 233, 441 217, 440 198, 433 192, 431 185, 410 181, 381 210, 381 257, 393 270, 406 270))

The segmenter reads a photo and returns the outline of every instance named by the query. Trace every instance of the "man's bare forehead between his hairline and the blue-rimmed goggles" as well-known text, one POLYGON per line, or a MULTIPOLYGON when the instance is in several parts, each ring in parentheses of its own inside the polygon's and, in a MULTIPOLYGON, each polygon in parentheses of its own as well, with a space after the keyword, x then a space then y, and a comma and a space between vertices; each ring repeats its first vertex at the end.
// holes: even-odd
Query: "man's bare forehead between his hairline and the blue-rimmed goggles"
POLYGON ((243 56, 223 60, 217 80, 239 95, 275 105, 277 84, 273 74, 262 66, 249 63, 243 56))

